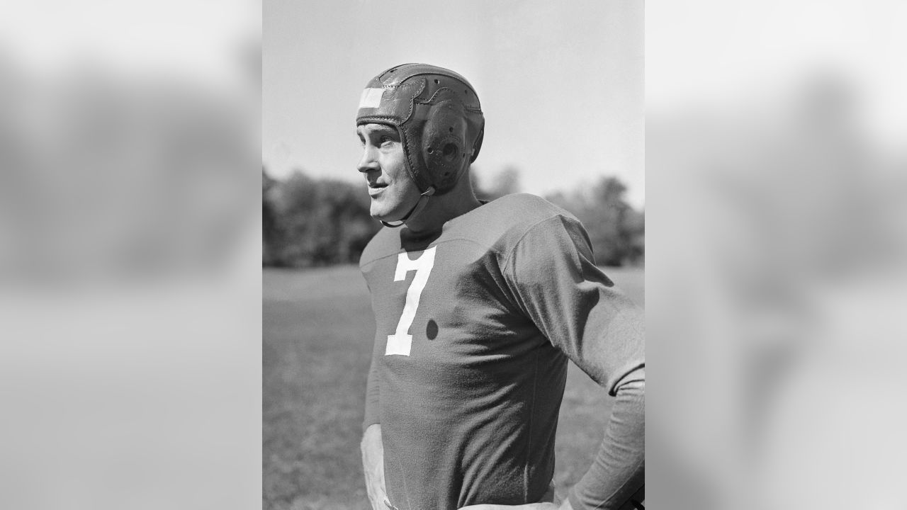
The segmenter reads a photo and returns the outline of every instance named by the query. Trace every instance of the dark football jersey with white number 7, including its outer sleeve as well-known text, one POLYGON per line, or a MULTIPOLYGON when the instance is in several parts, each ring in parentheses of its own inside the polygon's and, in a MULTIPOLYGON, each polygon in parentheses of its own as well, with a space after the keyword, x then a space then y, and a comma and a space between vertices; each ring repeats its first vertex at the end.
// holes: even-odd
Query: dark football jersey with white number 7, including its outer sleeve
POLYGON ((360 268, 375 311, 365 427, 400 510, 537 502, 554 471, 567 360, 612 394, 643 366, 642 315, 570 213, 508 195, 417 235, 383 229, 360 268))

